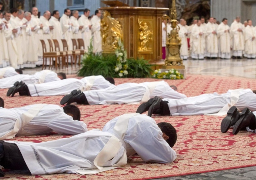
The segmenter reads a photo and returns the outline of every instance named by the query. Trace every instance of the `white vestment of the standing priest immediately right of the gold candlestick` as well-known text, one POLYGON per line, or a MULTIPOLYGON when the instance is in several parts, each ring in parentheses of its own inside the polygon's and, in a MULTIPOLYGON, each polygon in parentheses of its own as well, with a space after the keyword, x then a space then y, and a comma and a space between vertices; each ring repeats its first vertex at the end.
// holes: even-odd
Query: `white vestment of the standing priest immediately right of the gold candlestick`
POLYGON ((188 33, 188 31, 187 31, 185 26, 182 26, 181 24, 178 24, 178 26, 180 27, 179 37, 182 40, 182 46, 181 46, 181 49, 180 49, 181 58, 182 59, 187 59, 189 54, 188 54, 188 46, 187 46, 187 36, 186 36, 186 34, 188 33))

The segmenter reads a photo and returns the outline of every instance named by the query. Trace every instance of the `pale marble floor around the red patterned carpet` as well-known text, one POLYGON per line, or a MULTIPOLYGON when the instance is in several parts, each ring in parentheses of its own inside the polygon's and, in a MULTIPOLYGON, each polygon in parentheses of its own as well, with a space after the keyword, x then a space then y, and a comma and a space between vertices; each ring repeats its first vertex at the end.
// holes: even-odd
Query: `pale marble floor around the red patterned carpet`
MULTIPOLYGON (((256 59, 216 59, 216 60, 186 60, 183 61, 186 67, 186 74, 217 75, 217 76, 238 76, 256 78, 256 59)), ((33 74, 41 68, 24 69, 23 74, 33 74)), ((55 69, 52 69, 55 71, 55 69)), ((75 74, 79 67, 70 66, 56 72, 75 74)), ((214 171, 208 173, 185 175, 157 180, 256 180, 256 166, 232 169, 226 171, 214 171)))

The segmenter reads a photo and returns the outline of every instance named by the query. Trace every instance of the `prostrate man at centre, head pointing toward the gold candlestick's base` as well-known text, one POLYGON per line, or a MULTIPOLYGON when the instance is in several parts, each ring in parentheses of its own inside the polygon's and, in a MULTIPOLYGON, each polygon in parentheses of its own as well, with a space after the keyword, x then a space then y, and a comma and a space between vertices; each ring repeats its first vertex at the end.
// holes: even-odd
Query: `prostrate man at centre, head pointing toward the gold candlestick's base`
POLYGON ((124 83, 104 90, 77 91, 61 99, 61 104, 123 104, 146 102, 154 96, 162 98, 182 99, 185 94, 173 90, 165 81, 144 82, 144 83, 124 83))

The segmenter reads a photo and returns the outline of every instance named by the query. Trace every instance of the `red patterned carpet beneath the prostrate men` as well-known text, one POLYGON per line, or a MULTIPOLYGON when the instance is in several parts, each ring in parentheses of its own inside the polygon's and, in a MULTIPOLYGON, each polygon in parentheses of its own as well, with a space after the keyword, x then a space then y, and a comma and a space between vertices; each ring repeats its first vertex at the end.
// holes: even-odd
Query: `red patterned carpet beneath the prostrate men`
MULTIPOLYGON (((69 76, 70 77, 70 76, 69 76)), ((115 79, 116 84, 125 82, 156 81, 155 79, 115 79)), ((236 77, 188 75, 186 80, 168 80, 169 85, 177 85, 179 92, 187 96, 204 93, 224 93, 228 89, 251 88, 256 90, 256 80, 236 77)), ((0 90, 5 100, 5 108, 20 107, 35 103, 59 104, 62 96, 52 97, 6 97, 7 90, 0 90)), ((102 129, 104 124, 116 116, 135 112, 138 104, 123 105, 79 105, 81 119, 88 129, 102 129)), ((171 164, 145 163, 134 156, 126 166, 97 175, 54 174, 29 176, 26 171, 6 171, 5 178, 11 179, 108 179, 140 180, 177 175, 218 171, 246 166, 256 166, 256 134, 241 131, 220 132, 223 117, 180 116, 154 117, 157 122, 167 121, 177 129, 178 139, 174 146, 177 159, 171 164)), ((69 135, 37 135, 17 137, 17 141, 43 142, 69 137, 69 135)))

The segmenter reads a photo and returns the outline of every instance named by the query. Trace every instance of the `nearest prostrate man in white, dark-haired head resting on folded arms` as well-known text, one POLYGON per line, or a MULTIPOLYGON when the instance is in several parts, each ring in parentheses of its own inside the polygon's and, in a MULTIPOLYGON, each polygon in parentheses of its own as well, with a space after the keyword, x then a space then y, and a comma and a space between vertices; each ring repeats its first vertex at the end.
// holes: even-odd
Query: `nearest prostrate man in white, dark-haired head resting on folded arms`
POLYGON ((29 170, 32 175, 92 175, 126 165, 127 157, 134 153, 146 162, 171 163, 177 157, 172 149, 176 140, 171 124, 156 124, 138 113, 124 114, 108 122, 103 131, 89 130, 42 143, 0 141, 0 165, 29 170))

